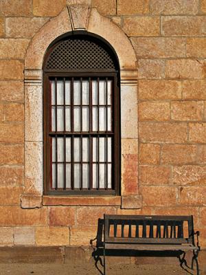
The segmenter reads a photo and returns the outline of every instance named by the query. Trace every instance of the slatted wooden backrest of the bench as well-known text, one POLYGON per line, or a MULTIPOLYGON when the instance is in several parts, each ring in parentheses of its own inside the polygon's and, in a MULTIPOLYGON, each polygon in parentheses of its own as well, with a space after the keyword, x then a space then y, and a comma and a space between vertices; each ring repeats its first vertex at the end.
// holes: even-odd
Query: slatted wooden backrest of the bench
POLYGON ((105 243, 192 243, 192 216, 104 214, 105 243))

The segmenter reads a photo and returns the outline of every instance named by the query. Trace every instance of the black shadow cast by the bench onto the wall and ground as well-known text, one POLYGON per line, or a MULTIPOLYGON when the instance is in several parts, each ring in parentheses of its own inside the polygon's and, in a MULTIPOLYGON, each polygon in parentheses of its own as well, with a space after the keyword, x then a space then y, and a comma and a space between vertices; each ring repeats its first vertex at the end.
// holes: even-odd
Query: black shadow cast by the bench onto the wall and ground
MULTIPOLYGON (((91 248, 93 248, 92 256, 95 260, 95 267, 101 275, 104 275, 101 267, 104 267, 102 258, 104 256, 104 219, 98 219, 98 232, 95 239, 90 240, 91 248), (93 244, 95 242, 95 245, 93 244), (100 266, 99 266, 100 265, 100 266)), ((138 251, 138 250, 106 250, 105 256, 127 256, 127 257, 176 257, 179 260, 180 267, 187 274, 194 274, 192 267, 187 265, 185 252, 179 251, 138 251)), ((193 261, 193 260, 192 260, 193 261)))

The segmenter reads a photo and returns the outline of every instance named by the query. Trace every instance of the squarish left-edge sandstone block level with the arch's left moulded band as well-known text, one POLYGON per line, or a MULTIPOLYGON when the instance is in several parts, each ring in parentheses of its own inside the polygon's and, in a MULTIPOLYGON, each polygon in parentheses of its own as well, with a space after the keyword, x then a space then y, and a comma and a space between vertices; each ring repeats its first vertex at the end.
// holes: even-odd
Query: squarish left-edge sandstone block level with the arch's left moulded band
POLYGON ((0 61, 0 80, 23 80, 23 63, 15 60, 0 61))

